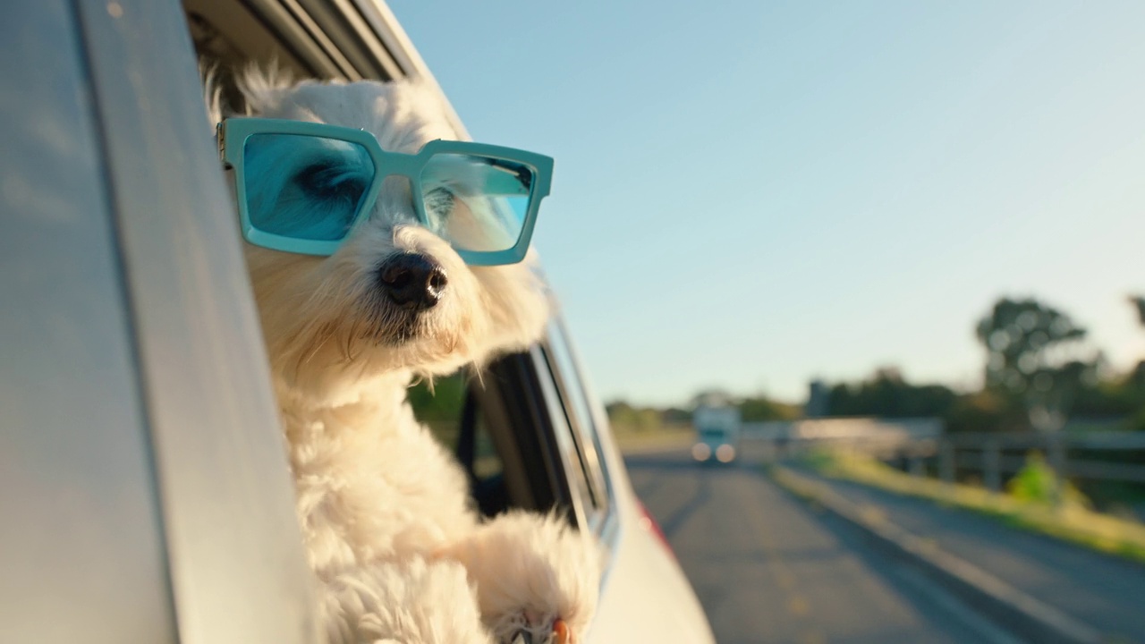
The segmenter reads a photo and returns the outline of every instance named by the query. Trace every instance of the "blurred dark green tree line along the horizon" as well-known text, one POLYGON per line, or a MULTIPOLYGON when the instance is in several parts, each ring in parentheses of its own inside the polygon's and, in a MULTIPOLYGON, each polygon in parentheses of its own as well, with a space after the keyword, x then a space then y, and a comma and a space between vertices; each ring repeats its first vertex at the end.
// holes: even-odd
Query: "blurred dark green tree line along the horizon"
MULTIPOLYGON (((1129 304, 1145 328, 1145 297, 1130 297, 1129 304)), ((1071 418, 1145 431, 1145 361, 1128 372, 1113 371, 1088 343, 1088 330, 1067 313, 1033 298, 1001 298, 973 332, 986 355, 980 390, 913 384, 898 369, 881 368, 860 382, 827 385, 820 413, 939 417, 951 432, 1056 430, 1071 418)), ((803 414, 798 406, 765 395, 735 398, 710 391, 682 407, 635 408, 614 401, 607 409, 618 431, 653 431, 686 425, 690 409, 713 395, 736 405, 745 422, 803 414)))

